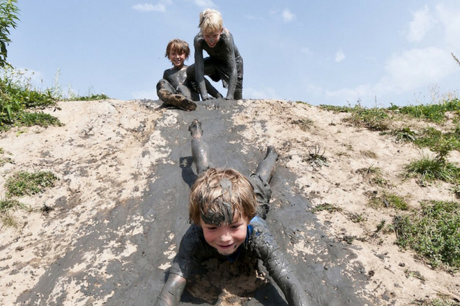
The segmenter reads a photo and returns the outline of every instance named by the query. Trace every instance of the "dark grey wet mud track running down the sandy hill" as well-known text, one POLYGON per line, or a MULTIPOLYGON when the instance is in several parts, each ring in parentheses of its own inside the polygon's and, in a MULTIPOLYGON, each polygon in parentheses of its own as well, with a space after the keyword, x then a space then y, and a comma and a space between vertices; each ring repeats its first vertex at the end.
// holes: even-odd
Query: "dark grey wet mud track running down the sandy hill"
MULTIPOLYGON (((245 126, 233 124, 232 116, 244 111, 233 100, 208 100, 199 102, 197 111, 178 110, 174 124, 160 124, 163 118, 146 123, 155 124, 155 130, 166 140, 164 149, 170 151, 152 166, 151 183, 143 197, 100 211, 91 224, 78 229, 82 234, 72 245, 74 248, 56 258, 35 287, 17 297, 17 303, 45 305, 43 301, 47 300, 47 305, 61 305, 72 300, 66 286, 76 284, 86 298, 84 305, 95 301, 104 305, 153 305, 189 227, 187 197, 196 179, 196 168, 187 128, 194 118, 202 122, 213 166, 236 168, 250 175, 270 143, 256 147, 240 135, 245 126), (108 265, 107 252, 117 258, 108 265), (89 265, 89 261, 100 262, 100 271, 97 264, 89 265), (107 268, 102 269, 103 265, 107 268)), ((266 124, 270 122, 261 122, 262 127, 266 124)), ((273 195, 266 220, 280 247, 286 250, 311 305, 371 305, 359 294, 365 291, 369 276, 355 261, 353 245, 325 234, 328 225, 316 219, 309 200, 300 196, 292 183, 294 178, 283 167, 280 156, 270 182, 273 195), (310 251, 293 251, 296 245, 304 245, 310 251)), ((59 201, 62 207, 71 205, 59 201)), ((287 305, 275 282, 258 263, 238 265, 206 262, 203 271, 187 283, 180 305, 287 305)))

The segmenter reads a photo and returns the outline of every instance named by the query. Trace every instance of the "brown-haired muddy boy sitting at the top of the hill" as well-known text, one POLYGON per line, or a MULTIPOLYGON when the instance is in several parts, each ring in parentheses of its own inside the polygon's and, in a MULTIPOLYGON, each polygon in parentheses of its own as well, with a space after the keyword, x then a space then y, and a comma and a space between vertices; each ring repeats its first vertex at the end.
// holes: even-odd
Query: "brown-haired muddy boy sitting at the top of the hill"
MULTIPOLYGON (((179 39, 171 40, 167 47, 165 57, 174 67, 164 70, 163 79, 157 83, 157 94, 166 104, 176 106, 185 111, 194 111, 199 101, 199 93, 193 86, 192 81, 187 79, 187 66, 185 60, 190 56, 190 47, 187 42, 179 39)), ((205 85, 213 97, 222 97, 208 80, 205 85)))

